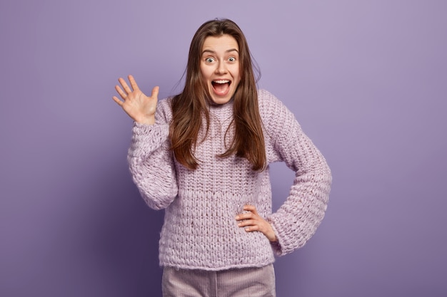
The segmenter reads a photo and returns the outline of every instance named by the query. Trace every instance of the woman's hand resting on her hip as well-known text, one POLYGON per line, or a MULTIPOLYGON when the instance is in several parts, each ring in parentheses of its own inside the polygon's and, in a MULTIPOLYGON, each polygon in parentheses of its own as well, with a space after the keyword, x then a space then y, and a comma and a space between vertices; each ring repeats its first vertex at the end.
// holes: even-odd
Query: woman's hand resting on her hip
POLYGON ((246 227, 245 231, 247 232, 260 231, 269 241, 277 241, 275 231, 273 231, 271 224, 258 214, 256 207, 253 205, 245 205, 243 210, 248 212, 236 216, 236 221, 239 222, 238 226, 246 227))

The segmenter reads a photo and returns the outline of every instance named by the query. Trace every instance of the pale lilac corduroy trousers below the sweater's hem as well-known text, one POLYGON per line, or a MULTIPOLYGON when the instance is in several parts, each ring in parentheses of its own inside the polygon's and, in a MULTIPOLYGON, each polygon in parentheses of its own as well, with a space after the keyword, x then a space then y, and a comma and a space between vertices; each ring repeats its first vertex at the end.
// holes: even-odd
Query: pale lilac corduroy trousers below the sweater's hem
POLYGON ((273 264, 205 271, 164 267, 163 297, 275 297, 273 264))

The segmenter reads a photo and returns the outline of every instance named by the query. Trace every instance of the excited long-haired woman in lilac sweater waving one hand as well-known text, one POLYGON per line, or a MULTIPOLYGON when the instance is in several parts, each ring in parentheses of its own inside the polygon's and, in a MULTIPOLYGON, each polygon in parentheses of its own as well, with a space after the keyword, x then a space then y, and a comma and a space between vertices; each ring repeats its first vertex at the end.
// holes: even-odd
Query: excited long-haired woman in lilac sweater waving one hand
POLYGON ((142 197, 166 209, 159 258, 164 296, 275 296, 273 254, 311 238, 323 219, 331 172, 293 114, 256 90, 250 51, 230 20, 191 41, 183 92, 147 97, 129 75, 114 100, 134 119, 129 165, 142 197), (268 164, 296 172, 271 210, 268 164))

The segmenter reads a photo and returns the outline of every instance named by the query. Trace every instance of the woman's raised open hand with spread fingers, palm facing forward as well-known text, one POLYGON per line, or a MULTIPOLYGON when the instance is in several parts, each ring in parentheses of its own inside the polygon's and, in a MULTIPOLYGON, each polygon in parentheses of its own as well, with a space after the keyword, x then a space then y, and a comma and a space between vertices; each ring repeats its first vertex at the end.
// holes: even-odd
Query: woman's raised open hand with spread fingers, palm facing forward
POLYGON ((119 85, 115 85, 116 92, 119 93, 123 100, 114 96, 114 101, 123 108, 123 110, 135 122, 153 125, 155 123, 155 110, 158 101, 159 87, 152 89, 151 97, 144 95, 139 89, 132 75, 128 76, 131 88, 127 85, 126 80, 119 78, 119 85))

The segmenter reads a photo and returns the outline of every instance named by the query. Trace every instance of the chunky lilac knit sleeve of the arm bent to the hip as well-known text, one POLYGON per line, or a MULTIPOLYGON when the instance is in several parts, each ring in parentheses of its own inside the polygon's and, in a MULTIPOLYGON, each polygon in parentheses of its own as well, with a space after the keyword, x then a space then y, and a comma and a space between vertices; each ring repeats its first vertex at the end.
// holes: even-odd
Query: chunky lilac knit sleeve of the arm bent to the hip
POLYGON ((293 113, 270 93, 266 97, 264 125, 272 143, 271 155, 295 172, 286 201, 267 217, 278 239, 272 243, 273 250, 282 256, 306 244, 315 233, 326 212, 332 177, 323 155, 293 113))

